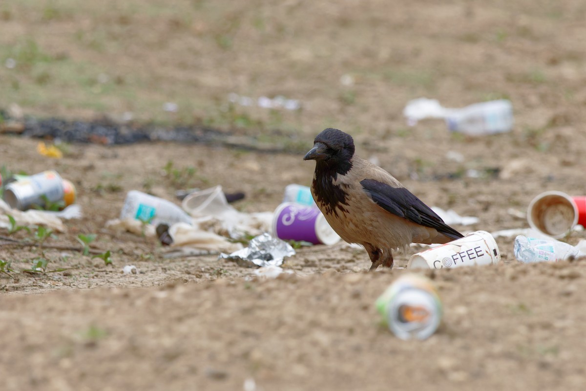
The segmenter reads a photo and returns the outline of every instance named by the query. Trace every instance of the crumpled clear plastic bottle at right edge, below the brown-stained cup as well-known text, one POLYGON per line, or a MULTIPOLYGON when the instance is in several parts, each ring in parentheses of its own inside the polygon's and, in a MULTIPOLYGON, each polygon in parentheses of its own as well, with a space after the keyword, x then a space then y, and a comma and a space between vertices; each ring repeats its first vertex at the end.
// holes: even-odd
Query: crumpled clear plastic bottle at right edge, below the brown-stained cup
POLYGON ((515 238, 515 258, 524 263, 557 262, 570 257, 583 257, 586 254, 571 244, 559 240, 535 239, 519 235, 515 238))

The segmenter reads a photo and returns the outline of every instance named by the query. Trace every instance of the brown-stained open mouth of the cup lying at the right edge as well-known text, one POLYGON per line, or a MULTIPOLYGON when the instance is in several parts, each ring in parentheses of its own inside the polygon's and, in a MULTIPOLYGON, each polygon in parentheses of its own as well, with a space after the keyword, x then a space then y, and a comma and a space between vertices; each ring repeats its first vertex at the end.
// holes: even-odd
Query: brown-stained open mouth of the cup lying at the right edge
POLYGON ((578 223, 580 212, 573 197, 564 192, 548 191, 529 203, 527 222, 533 229, 560 239, 578 223))

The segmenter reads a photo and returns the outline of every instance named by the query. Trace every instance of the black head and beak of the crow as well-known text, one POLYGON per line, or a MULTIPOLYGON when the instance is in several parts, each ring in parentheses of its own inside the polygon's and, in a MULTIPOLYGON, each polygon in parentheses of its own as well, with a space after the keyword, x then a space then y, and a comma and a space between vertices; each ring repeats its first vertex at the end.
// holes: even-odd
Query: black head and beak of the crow
POLYGON ((307 152, 304 160, 315 160, 318 165, 326 165, 339 174, 346 174, 352 167, 354 140, 345 132, 327 128, 314 140, 314 147, 307 152))

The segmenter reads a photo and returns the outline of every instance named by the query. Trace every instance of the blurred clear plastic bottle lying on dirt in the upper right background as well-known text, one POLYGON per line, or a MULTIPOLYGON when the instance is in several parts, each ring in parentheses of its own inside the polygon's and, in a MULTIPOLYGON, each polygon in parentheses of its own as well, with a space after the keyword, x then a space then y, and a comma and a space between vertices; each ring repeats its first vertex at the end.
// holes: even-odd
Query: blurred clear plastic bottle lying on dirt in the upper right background
POLYGON ((445 121, 449 130, 468 135, 508 132, 513 127, 513 107, 500 99, 449 109, 445 121))

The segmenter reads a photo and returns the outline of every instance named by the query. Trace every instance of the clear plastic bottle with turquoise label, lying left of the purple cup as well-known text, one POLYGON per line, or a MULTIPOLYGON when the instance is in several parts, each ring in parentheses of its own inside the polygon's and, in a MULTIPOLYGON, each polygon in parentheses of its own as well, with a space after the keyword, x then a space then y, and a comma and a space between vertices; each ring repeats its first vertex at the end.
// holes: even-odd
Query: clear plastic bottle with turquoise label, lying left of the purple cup
POLYGON ((159 225, 159 223, 172 225, 184 222, 189 225, 193 224, 192 217, 171 201, 136 190, 128 192, 120 212, 121 219, 128 217, 151 223, 155 226, 159 225))

